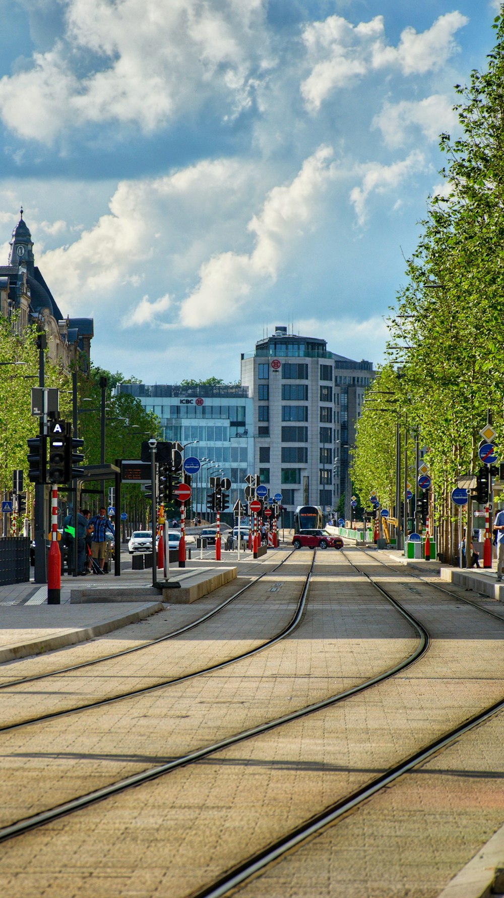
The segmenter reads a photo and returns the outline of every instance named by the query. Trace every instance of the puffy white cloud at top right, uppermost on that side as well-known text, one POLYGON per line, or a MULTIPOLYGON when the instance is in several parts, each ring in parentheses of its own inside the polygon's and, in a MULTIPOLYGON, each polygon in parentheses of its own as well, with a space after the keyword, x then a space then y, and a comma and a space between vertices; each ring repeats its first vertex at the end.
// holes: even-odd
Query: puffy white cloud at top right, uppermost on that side
POLYGON ((383 16, 353 26, 342 16, 330 15, 305 28, 310 74, 300 92, 310 112, 317 112, 336 88, 348 87, 373 69, 399 68, 403 75, 424 75, 444 66, 457 45, 454 35, 469 20, 461 13, 447 13, 427 31, 405 28, 397 47, 387 46, 383 16))

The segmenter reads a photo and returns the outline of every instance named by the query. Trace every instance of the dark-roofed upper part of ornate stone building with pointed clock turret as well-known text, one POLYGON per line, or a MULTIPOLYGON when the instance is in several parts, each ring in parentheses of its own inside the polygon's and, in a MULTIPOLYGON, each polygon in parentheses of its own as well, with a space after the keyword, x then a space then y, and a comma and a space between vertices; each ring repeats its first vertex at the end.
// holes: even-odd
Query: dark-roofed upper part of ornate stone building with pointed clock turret
POLYGON ((18 312, 17 330, 22 337, 36 323, 48 339, 48 357, 65 371, 90 366, 92 318, 64 318, 39 268, 35 265, 30 229, 22 217, 13 229, 7 265, 0 265, 0 313, 10 318, 18 312))

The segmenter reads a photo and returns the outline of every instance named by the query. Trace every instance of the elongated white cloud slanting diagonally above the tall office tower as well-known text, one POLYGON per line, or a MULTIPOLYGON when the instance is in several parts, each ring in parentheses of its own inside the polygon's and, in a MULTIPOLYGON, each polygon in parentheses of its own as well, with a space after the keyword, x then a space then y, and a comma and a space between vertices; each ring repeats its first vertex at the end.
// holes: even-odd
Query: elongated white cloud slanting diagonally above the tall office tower
POLYGON ((328 164, 332 154, 331 147, 320 147, 291 184, 270 191, 260 214, 248 223, 248 231, 256 235, 252 252, 221 252, 204 262, 196 290, 182 303, 183 325, 200 328, 229 320, 254 287, 274 281, 292 242, 303 227, 311 226, 317 200, 333 176, 328 164))

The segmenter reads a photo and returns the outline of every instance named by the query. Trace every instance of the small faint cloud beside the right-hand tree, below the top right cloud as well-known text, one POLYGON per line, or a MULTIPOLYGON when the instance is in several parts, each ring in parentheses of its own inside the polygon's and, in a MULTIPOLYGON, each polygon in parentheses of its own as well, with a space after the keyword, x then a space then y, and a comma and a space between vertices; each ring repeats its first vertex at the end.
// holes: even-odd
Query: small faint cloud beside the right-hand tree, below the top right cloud
POLYGON ((373 127, 379 128, 385 143, 391 147, 404 145, 406 132, 412 126, 420 128, 428 140, 436 141, 441 131, 456 127, 458 119, 452 106, 453 101, 441 93, 420 101, 386 102, 373 119, 373 127))

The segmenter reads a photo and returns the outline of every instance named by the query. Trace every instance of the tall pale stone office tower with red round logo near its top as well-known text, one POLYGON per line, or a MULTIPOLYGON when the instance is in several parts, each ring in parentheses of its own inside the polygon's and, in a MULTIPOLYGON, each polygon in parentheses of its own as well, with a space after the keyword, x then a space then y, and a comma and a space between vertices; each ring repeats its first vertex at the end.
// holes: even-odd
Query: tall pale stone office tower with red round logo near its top
POLYGON ((325 339, 277 327, 241 356, 241 384, 254 401, 254 467, 270 496, 282 493, 285 526, 296 506, 326 512, 345 496, 350 517, 349 450, 371 362, 329 352, 325 339))

